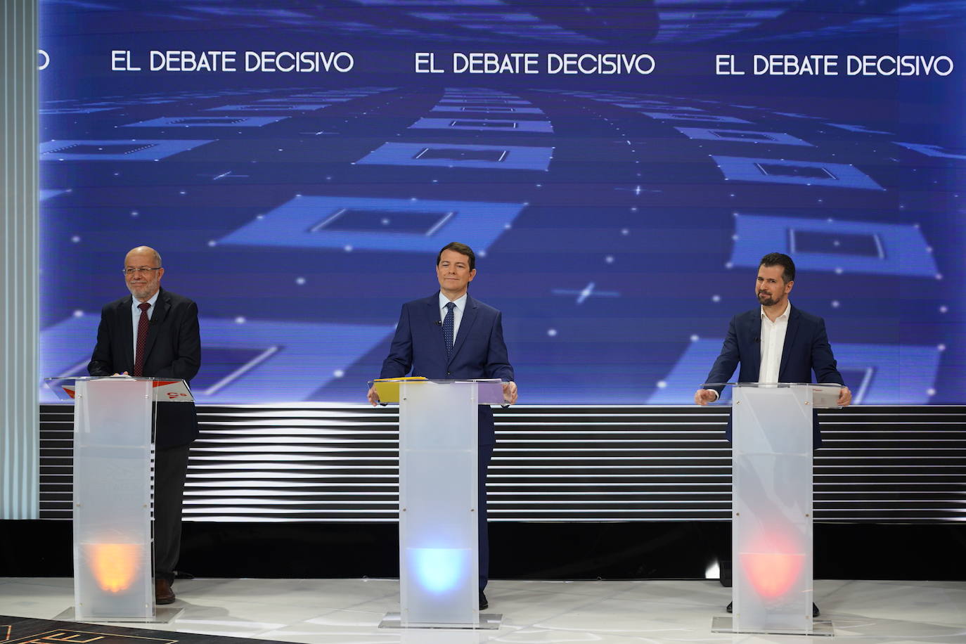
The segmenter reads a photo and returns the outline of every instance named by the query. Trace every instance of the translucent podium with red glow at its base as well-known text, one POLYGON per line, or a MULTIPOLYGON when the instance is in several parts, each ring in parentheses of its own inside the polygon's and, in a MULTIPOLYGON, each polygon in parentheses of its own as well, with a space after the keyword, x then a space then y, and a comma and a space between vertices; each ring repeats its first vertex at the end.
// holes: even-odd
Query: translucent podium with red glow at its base
POLYGON ((732 613, 715 632, 832 635, 813 620, 812 409, 840 385, 719 383, 731 388, 732 613))

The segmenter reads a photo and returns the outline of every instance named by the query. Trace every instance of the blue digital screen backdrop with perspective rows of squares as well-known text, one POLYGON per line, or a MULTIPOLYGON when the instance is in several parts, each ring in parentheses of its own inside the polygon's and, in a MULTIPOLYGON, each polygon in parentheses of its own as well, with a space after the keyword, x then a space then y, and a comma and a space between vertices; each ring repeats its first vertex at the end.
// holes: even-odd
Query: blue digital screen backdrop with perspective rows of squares
MULTIPOLYGON (((715 54, 948 55, 966 2, 41 0, 42 374, 83 373, 155 246, 198 400, 360 403, 436 250, 473 246, 522 403, 688 404, 758 258, 799 266, 866 404, 966 402, 966 83, 715 75, 715 54), (348 73, 111 71, 346 50, 348 73), (416 74, 413 53, 650 53, 653 74, 416 74)), ((746 67, 746 69, 748 69, 746 67)), ((45 399, 50 398, 44 392, 45 399)))

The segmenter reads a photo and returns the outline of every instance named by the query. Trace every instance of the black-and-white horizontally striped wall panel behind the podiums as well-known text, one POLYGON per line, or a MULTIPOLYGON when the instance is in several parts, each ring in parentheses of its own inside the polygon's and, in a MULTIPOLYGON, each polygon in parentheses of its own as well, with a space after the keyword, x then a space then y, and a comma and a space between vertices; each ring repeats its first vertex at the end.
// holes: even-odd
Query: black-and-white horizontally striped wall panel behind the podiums
MULTIPOLYGON (((491 520, 727 520, 727 410, 659 406, 497 409, 491 520)), ((71 407, 42 406, 41 516, 70 518, 71 407)), ((202 406, 185 518, 395 521, 392 407, 202 406)), ((823 413, 820 521, 966 519, 966 406, 823 413)))

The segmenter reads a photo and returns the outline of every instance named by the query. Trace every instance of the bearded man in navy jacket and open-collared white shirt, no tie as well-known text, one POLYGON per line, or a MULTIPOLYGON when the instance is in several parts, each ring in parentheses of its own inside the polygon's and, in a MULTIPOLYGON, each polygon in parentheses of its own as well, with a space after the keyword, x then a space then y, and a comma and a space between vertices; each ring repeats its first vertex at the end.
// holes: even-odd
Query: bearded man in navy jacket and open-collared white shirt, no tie
MULTIPOLYGON (((842 385, 838 405, 848 406, 852 393, 836 368, 825 321, 791 305, 788 294, 794 284, 795 263, 790 257, 769 253, 761 258, 754 287, 760 306, 731 318, 722 352, 705 382, 727 382, 739 363, 739 382, 811 382, 814 372, 816 382, 842 385)), ((721 389, 698 389, 695 403, 715 402, 721 389)), ((812 413, 812 444, 817 449, 822 437, 818 416, 812 413)), ((725 436, 731 439, 730 418, 725 436)), ((730 603, 726 610, 731 612, 730 603)), ((812 614, 818 616, 814 604, 812 614)))

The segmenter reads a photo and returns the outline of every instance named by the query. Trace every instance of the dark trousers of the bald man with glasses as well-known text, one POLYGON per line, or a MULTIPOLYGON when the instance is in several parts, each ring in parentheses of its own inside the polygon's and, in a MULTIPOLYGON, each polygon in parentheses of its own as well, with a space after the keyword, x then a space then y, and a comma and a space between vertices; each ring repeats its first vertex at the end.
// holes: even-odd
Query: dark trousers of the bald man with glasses
POLYGON ((169 582, 175 579, 181 553, 188 448, 180 445, 155 453, 155 578, 169 582))

